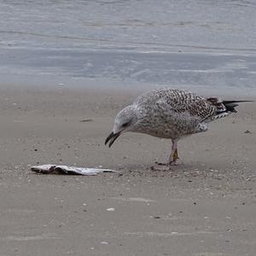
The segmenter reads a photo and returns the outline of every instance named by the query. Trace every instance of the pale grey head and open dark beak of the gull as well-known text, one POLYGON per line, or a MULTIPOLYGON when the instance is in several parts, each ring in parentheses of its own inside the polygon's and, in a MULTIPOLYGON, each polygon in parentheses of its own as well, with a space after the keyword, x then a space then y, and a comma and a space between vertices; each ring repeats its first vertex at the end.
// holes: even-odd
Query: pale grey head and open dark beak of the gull
POLYGON ((126 131, 136 131, 137 108, 135 105, 127 106, 122 109, 114 119, 113 131, 106 138, 105 145, 109 142, 111 147, 113 142, 126 131))

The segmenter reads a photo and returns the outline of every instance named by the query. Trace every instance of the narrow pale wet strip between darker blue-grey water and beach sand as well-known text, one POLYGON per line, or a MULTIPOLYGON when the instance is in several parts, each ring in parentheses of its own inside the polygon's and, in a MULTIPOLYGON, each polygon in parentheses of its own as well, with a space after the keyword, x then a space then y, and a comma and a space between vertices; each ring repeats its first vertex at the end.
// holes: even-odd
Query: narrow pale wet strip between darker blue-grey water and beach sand
MULTIPOLYGON (((45 77, 44 77, 45 78, 45 77)), ((38 77, 16 76, 11 79, 4 77, 0 84, 2 90, 31 90, 31 91, 61 91, 61 90, 73 90, 74 92, 80 91, 86 93, 86 91, 94 92, 97 94, 110 94, 113 95, 131 95, 135 97, 139 96, 143 92, 148 90, 154 90, 156 88, 172 88, 180 90, 189 90, 200 96, 217 96, 234 98, 236 100, 241 97, 242 99, 256 98, 256 89, 250 87, 232 87, 224 86, 218 87, 206 87, 201 85, 189 85, 189 84, 146 84, 146 83, 129 83, 112 79, 73 79, 69 77, 50 77, 49 79, 43 79, 38 77)))

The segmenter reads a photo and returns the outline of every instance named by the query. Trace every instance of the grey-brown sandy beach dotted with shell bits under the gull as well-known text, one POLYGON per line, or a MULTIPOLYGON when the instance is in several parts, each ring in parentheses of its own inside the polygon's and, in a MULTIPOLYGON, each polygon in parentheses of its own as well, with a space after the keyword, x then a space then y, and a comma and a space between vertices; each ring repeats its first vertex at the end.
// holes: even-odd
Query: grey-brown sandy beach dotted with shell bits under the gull
POLYGON ((181 141, 181 164, 156 172, 168 140, 127 133, 103 144, 137 92, 1 88, 1 256, 255 255, 256 103, 181 141), (30 172, 49 163, 120 173, 30 172))

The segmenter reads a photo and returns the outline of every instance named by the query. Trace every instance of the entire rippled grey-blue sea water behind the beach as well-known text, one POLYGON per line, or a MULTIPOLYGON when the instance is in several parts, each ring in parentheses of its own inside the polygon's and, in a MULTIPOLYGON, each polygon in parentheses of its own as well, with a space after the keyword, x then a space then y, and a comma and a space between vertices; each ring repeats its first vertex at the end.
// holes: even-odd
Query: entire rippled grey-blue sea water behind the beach
POLYGON ((0 76, 251 94, 255 25, 253 0, 2 0, 0 76))

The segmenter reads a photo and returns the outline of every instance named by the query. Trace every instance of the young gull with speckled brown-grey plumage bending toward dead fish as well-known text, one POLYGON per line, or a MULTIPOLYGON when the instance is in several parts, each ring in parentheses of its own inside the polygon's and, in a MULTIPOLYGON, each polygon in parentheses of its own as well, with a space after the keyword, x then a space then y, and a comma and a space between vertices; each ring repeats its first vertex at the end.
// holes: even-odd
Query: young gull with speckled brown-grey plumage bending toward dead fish
POLYGON ((170 88, 149 90, 116 116, 113 131, 105 144, 109 147, 124 132, 134 131, 172 139, 172 153, 167 165, 177 165, 177 141, 207 131, 208 123, 236 113, 238 102, 203 98, 188 90, 170 88))

